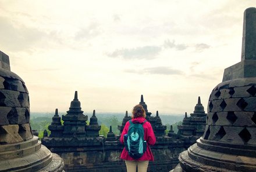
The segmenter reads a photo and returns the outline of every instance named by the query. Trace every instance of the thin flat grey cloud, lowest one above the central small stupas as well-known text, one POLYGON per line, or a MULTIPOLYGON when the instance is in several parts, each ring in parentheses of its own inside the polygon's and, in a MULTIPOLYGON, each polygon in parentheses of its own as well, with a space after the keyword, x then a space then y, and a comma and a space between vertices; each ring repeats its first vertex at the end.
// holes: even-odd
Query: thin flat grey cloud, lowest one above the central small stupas
POLYGON ((144 68, 141 70, 131 70, 127 69, 125 72, 135 73, 135 74, 149 74, 149 75, 183 75, 184 72, 178 69, 172 69, 170 67, 152 67, 144 68))

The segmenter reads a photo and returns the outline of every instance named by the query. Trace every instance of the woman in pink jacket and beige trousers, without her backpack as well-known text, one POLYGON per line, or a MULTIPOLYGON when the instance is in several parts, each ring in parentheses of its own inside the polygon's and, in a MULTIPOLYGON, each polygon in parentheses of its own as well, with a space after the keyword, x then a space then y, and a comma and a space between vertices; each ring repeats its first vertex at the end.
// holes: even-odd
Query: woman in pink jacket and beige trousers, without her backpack
MULTIPOLYGON (((131 115, 131 122, 133 123, 143 123, 146 119, 145 110, 142 105, 138 104, 133 108, 133 113, 131 115)), ((123 144, 123 136, 128 133, 130 123, 126 122, 125 128, 120 137, 120 142, 123 144)), ((136 172, 136 166, 138 166, 138 172, 146 172, 148 168, 148 162, 154 161, 153 154, 150 149, 150 145, 155 144, 155 134, 152 129, 150 122, 145 122, 143 124, 144 129, 144 140, 147 141, 147 150, 139 159, 133 159, 129 156, 126 148, 123 149, 121 158, 125 160, 127 172, 136 172)))

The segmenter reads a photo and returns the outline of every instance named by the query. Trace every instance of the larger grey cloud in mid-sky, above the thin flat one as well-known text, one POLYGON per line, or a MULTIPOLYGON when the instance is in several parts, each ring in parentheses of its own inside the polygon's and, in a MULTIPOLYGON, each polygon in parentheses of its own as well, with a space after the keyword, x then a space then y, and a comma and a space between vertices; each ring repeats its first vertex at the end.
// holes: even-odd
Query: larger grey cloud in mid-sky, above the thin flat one
POLYGON ((142 46, 132 49, 117 49, 112 53, 107 53, 109 57, 120 57, 124 59, 146 59, 155 58, 162 48, 160 46, 142 46))

